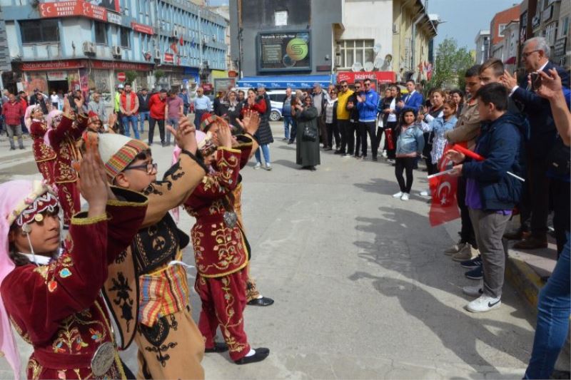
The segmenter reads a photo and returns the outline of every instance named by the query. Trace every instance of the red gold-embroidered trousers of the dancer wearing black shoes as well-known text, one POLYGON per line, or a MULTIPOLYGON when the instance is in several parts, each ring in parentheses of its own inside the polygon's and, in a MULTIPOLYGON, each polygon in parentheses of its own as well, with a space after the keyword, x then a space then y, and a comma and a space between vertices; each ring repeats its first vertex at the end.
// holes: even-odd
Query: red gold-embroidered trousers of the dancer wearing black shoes
POLYGON ((198 329, 205 338, 204 346, 207 349, 214 346, 216 328, 220 326, 231 359, 242 359, 250 351, 243 319, 246 307, 245 269, 216 278, 202 277, 198 273, 194 287, 202 301, 198 329))

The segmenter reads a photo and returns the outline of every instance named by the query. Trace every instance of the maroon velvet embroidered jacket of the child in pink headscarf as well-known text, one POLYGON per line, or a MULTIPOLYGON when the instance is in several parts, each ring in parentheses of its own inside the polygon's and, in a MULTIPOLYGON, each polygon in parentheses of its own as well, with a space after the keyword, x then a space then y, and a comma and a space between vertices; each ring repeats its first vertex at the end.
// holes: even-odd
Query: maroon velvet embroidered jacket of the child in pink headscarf
MULTIPOLYGON (((34 346, 29 379, 89 379, 91 359, 101 344, 113 342, 111 325, 100 296, 108 263, 133 239, 146 211, 146 197, 114 189, 131 202, 109 200, 107 215, 71 220, 71 246, 49 265, 16 267, 0 292, 16 331, 34 346)), ((125 379, 115 360, 105 374, 125 379)))

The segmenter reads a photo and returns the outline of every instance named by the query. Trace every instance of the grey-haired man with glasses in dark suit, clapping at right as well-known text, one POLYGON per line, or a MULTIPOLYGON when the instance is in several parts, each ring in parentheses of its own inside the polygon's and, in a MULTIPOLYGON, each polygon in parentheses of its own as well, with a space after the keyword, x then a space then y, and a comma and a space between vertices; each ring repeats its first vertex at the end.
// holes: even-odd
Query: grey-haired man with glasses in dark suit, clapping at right
MULTIPOLYGON (((564 87, 569 87, 569 73, 549 61, 549 44, 543 37, 530 38, 523 44, 522 60, 527 73, 555 68, 564 87)), ((527 188, 522 200, 522 225, 530 220, 530 235, 514 247, 532 250, 547 247, 547 215, 549 214, 550 178, 547 177, 547 157, 555 145, 557 129, 549 101, 541 98, 527 85, 527 76, 519 86, 515 76, 507 71, 502 82, 511 91, 511 98, 519 104, 530 122, 530 135, 527 143, 528 174, 527 188)), ((521 236, 517 236, 521 238, 521 236)))

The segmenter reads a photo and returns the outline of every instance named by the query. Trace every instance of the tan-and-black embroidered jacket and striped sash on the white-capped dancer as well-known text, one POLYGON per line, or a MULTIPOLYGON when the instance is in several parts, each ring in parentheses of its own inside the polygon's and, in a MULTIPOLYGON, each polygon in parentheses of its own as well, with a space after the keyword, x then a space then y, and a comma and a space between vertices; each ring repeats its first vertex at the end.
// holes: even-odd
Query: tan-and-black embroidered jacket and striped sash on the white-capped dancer
POLYGON ((131 344, 139 323, 154 327, 160 317, 188 306, 186 272, 180 265, 168 264, 180 260, 181 248, 189 239, 178 230, 168 210, 181 205, 205 173, 203 165, 181 154, 163 180, 151 183, 144 191, 148 207, 143 223, 131 245, 109 268, 103 287, 121 349, 131 344))

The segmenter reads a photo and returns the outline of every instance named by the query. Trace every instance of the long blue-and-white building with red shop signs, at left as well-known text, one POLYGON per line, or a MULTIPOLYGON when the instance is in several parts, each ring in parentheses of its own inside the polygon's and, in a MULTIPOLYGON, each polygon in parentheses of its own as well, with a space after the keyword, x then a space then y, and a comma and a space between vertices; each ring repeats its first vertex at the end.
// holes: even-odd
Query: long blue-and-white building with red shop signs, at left
POLYGON ((128 74, 141 87, 183 86, 226 69, 226 21, 183 0, 0 0, 11 91, 97 89, 110 99, 128 74))

